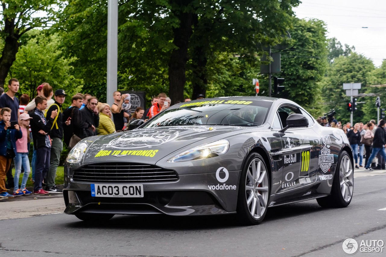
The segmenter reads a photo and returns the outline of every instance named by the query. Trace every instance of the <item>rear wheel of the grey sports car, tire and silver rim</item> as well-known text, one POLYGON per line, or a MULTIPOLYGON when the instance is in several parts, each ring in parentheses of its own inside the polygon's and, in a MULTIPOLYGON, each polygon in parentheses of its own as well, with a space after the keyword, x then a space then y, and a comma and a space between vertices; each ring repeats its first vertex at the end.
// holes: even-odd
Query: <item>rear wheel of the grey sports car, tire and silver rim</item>
POLYGON ((347 207, 352 199, 354 190, 354 169, 353 161, 346 151, 342 151, 338 158, 332 182, 331 195, 317 198, 321 207, 344 208, 347 207))

